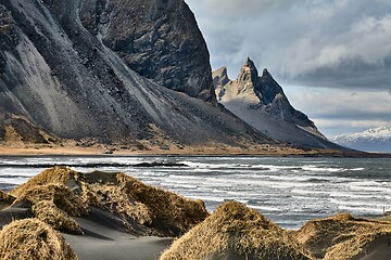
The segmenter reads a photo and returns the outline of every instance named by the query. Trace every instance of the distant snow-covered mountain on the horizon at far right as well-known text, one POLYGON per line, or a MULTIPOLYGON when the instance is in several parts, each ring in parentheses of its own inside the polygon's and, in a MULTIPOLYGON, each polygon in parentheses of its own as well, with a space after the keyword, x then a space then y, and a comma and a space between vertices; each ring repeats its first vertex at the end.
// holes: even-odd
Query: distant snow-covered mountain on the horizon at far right
POLYGON ((332 138, 331 141, 354 150, 391 153, 391 127, 368 129, 360 133, 345 133, 332 138))

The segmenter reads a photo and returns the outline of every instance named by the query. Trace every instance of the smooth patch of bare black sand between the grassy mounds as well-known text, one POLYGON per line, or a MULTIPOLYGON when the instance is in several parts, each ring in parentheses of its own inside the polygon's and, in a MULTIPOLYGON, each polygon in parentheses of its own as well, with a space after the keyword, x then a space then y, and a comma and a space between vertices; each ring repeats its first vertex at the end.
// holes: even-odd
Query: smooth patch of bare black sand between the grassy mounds
POLYGON ((159 259, 173 238, 142 236, 124 232, 121 221, 98 209, 86 218, 75 218, 84 235, 65 234, 65 239, 79 259, 85 260, 152 260, 159 259))

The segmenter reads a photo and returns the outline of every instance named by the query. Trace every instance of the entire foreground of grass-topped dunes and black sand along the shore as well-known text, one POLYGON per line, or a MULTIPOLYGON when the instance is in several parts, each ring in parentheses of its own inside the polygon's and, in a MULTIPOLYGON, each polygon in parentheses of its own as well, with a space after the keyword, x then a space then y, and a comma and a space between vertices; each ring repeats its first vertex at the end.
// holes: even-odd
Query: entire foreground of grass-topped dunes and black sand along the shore
MULTIPOLYGON (((210 214, 201 200, 124 173, 80 173, 66 167, 0 192, 0 259, 53 259, 50 250, 36 257, 52 240, 48 234, 58 234, 55 239, 80 260, 391 259, 388 219, 341 213, 287 231, 236 202, 210 214)), ((61 256, 62 249, 55 250, 61 256)))

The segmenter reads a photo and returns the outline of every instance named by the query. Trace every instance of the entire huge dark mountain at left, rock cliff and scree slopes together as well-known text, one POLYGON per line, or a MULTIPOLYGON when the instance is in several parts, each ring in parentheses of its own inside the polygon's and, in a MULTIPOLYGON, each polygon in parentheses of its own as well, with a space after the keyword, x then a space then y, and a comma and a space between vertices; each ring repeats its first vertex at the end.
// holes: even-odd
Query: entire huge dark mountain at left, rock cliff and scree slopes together
POLYGON ((275 143, 212 92, 182 0, 1 1, 0 108, 37 129, 109 144, 275 143))

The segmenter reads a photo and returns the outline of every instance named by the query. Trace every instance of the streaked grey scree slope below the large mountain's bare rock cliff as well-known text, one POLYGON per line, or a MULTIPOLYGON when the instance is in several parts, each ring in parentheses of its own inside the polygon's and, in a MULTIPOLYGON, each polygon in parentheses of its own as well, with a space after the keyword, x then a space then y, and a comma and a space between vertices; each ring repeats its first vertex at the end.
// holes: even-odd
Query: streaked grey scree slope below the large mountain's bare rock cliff
MULTIPOLYGON (((24 116, 59 138, 97 138, 105 143, 152 139, 156 132, 181 143, 236 143, 237 138, 272 142, 225 109, 130 69, 108 48, 102 34, 86 25, 83 12, 88 3, 1 1, 0 107, 7 113, 24 116)), ((140 8, 134 2, 128 5, 140 8)), ((159 6, 154 6, 157 13, 159 6)), ((127 26, 118 31, 134 29, 127 26)), ((138 36, 131 32, 130 38, 138 36)), ((147 56, 150 53, 146 51, 147 56)), ((209 65, 203 67, 207 70, 209 65)), ((184 72, 190 73, 181 69, 178 75, 184 72)))

